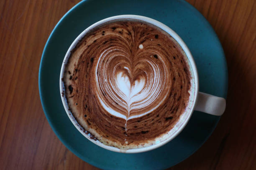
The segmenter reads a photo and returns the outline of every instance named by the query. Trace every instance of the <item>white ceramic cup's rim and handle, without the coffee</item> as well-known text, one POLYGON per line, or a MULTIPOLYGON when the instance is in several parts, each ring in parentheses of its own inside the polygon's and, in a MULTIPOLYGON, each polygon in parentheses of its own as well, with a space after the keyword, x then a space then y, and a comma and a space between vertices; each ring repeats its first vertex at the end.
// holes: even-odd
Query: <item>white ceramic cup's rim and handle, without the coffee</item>
POLYGON ((225 101, 224 98, 216 97, 216 96, 198 91, 198 88, 199 88, 198 83, 199 82, 198 82, 198 74, 197 74, 197 68, 196 68, 196 65, 195 65, 195 61, 194 61, 187 45, 183 42, 183 40, 179 37, 179 35, 177 35, 177 33, 175 33, 171 28, 164 25, 163 23, 160 23, 159 21, 156 21, 156 20, 151 19, 151 18, 139 16, 139 15, 118 15, 118 16, 106 18, 104 20, 100 20, 99 22, 91 25, 89 28, 84 30, 74 40, 74 42, 69 47, 69 49, 68 49, 68 51, 67 51, 67 53, 64 57, 64 61, 62 63, 62 67, 61 67, 61 74, 60 74, 60 91, 61 91, 61 93, 65 90, 64 83, 62 82, 61 79, 62 79, 62 77, 64 77, 65 66, 67 64, 67 60, 69 58, 71 50, 77 45, 79 40, 81 40, 82 37, 84 37, 87 34, 87 32, 90 32, 90 30, 94 29, 95 27, 97 27, 99 25, 102 25, 104 23, 109 23, 113 20, 138 20, 138 21, 143 21, 143 22, 146 22, 146 23, 153 24, 153 25, 161 28, 165 32, 167 32, 169 35, 171 35, 179 43, 179 45, 182 47, 182 49, 184 50, 184 52, 187 55, 187 58, 189 60, 189 65, 190 65, 190 71, 191 71, 191 74, 193 75, 192 76, 193 81, 195 82, 194 83, 195 84, 195 93, 193 95, 193 100, 191 100, 191 102, 189 103, 190 109, 187 112, 187 114, 185 114, 185 116, 183 116, 182 118, 179 119, 179 121, 177 122, 177 126, 174 126, 174 128, 172 130, 170 130, 170 132, 168 132, 164 136, 164 138, 157 138, 156 142, 153 145, 150 145, 150 146, 147 146, 147 147, 144 147, 144 148, 137 148, 137 149, 130 149, 130 150, 120 150, 119 148, 104 145, 98 140, 95 141, 95 140, 91 139, 90 136, 88 136, 86 133, 84 133, 83 128, 77 123, 77 121, 73 117, 72 113, 69 111, 69 108, 68 108, 68 105, 67 105, 67 100, 66 100, 65 96, 61 95, 61 100, 63 102, 64 108, 65 108, 65 110, 67 112, 67 115, 69 116, 70 120, 72 121, 74 126, 77 128, 77 130, 79 130, 79 132, 82 133, 88 140, 90 140, 92 143, 95 143, 96 145, 99 145, 102 148, 112 150, 112 151, 115 151, 115 152, 140 153, 140 152, 145 152, 145 151, 148 151, 148 150, 153 150, 155 148, 158 148, 158 147, 168 143, 172 139, 174 139, 184 129, 184 127, 187 125, 187 122, 189 121, 189 119, 190 119, 194 110, 198 110, 198 111, 205 112, 205 113, 208 113, 208 114, 211 114, 211 115, 216 115, 216 116, 220 116, 220 115, 223 114, 223 112, 225 110, 225 106, 226 106, 226 101, 225 101))

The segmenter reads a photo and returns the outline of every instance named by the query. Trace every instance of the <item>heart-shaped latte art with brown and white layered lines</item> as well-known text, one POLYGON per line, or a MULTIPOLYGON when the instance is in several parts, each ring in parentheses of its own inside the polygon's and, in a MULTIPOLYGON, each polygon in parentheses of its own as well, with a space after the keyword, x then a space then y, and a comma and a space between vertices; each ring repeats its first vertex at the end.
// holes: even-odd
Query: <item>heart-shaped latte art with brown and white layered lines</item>
POLYGON ((128 43, 106 48, 95 67, 96 94, 102 107, 125 120, 152 112, 171 86, 166 86, 170 71, 161 52, 148 55, 150 50, 140 49, 132 53, 130 48, 128 43))

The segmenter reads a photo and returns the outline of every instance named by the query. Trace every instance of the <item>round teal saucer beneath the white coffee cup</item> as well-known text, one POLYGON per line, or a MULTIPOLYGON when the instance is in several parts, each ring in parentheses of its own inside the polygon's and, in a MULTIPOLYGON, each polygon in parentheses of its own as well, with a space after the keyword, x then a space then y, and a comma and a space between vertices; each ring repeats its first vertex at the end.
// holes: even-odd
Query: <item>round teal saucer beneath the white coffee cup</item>
POLYGON ((41 102, 51 128, 82 160, 102 169, 156 170, 169 168, 199 149, 220 117, 194 112, 174 140, 145 153, 115 153, 93 144, 74 127, 61 102, 59 75, 73 40, 87 27, 114 15, 143 15, 168 25, 189 47, 199 74, 200 91, 226 97, 228 70, 223 48, 205 18, 183 0, 84 0, 57 23, 46 42, 39 68, 41 102))

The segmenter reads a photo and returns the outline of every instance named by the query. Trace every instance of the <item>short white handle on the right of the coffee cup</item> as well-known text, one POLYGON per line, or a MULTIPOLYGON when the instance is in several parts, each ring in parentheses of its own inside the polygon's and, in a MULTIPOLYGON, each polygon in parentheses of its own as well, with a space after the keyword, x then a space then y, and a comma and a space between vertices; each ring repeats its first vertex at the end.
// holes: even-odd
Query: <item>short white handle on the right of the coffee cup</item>
POLYGON ((226 100, 224 98, 204 92, 198 92, 197 97, 195 110, 216 116, 221 116, 225 111, 226 100))

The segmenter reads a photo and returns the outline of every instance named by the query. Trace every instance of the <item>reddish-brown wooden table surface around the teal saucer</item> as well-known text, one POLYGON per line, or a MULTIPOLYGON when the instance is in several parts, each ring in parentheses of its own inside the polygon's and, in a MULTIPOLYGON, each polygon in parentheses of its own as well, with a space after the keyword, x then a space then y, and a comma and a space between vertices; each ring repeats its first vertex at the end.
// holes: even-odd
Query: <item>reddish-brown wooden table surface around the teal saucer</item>
MULTIPOLYGON (((38 93, 44 45, 79 0, 0 1, 0 170, 97 168, 71 153, 38 93)), ((212 136, 170 170, 256 170, 256 1, 188 0, 210 22, 228 62, 227 108, 212 136)))

